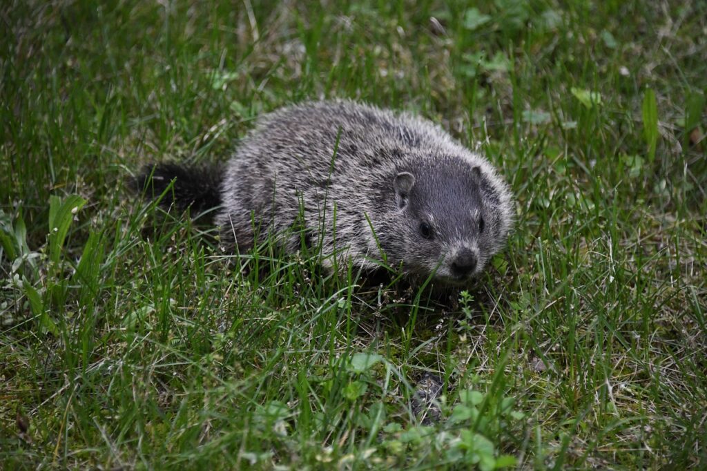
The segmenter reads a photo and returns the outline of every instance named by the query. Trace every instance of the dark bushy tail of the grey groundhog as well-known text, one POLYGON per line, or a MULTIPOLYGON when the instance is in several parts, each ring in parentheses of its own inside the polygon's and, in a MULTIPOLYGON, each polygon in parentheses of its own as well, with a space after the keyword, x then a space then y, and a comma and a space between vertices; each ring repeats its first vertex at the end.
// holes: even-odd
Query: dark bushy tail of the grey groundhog
POLYGON ((174 206, 180 211, 190 208, 195 216, 221 204, 219 188, 222 174, 217 166, 156 163, 145 165, 134 178, 133 187, 152 198, 164 194, 160 206, 174 206))

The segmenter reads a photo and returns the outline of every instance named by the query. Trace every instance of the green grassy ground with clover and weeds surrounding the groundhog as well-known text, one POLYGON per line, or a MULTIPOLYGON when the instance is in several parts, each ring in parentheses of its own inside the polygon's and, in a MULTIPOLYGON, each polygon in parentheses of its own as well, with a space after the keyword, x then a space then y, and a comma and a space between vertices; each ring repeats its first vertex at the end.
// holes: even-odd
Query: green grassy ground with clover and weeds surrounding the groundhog
POLYGON ((705 469, 707 4, 588 3, 4 2, 0 468, 705 469), (505 175, 477 284, 233 257, 127 188, 332 97, 505 175))

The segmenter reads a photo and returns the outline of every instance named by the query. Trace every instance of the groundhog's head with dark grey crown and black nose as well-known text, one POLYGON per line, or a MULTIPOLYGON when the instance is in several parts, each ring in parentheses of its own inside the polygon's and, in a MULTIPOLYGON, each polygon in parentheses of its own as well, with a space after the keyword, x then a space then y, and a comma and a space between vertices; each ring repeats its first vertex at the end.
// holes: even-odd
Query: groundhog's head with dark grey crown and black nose
POLYGON ((405 269, 462 284, 506 242, 506 185, 464 158, 416 160, 393 179, 399 229, 395 251, 405 269))

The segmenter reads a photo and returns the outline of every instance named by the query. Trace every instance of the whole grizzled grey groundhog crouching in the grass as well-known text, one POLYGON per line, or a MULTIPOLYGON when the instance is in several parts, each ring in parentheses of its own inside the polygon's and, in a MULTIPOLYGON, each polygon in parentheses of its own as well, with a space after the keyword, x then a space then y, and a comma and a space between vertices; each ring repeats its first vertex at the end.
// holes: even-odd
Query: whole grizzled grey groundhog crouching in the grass
POLYGON ((225 167, 158 163, 136 183, 167 207, 218 207, 239 252, 271 237, 319 250, 325 268, 386 264, 443 284, 479 274, 513 220, 486 158, 428 120, 346 100, 264 115, 225 167))

